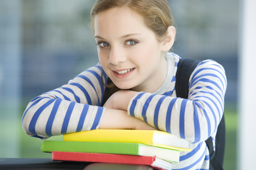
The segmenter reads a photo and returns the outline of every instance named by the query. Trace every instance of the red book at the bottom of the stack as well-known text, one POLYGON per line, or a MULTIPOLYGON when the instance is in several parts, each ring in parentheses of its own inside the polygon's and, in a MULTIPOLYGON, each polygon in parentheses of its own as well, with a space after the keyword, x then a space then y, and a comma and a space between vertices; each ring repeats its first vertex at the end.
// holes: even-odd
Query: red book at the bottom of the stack
POLYGON ((156 156, 134 156, 125 154, 102 154, 102 153, 74 153, 53 151, 53 160, 78 161, 78 162, 101 162, 123 163, 133 165, 149 165, 156 169, 171 169, 171 163, 156 156))

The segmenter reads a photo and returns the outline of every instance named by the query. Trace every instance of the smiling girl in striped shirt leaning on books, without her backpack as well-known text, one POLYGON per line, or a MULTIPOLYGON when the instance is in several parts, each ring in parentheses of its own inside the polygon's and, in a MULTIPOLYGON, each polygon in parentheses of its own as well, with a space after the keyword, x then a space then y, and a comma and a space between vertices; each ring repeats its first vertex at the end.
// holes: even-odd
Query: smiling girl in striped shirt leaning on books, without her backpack
POLYGON ((191 143, 173 169, 209 169, 204 141, 215 138, 223 115, 223 67, 200 62, 188 99, 177 98, 181 58, 168 52, 176 31, 166 0, 98 0, 91 18, 100 63, 31 100, 22 118, 25 132, 45 139, 93 129, 158 129, 191 143), (106 88, 112 96, 103 105, 106 88))

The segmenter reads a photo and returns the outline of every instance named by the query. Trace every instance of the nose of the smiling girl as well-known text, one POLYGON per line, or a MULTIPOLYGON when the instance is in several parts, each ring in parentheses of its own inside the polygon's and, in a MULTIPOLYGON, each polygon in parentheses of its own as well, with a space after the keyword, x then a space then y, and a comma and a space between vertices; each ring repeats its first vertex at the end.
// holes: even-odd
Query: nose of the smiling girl
POLYGON ((120 47, 113 47, 110 50, 109 53, 109 63, 113 65, 121 64, 122 62, 126 61, 126 55, 123 49, 120 47))

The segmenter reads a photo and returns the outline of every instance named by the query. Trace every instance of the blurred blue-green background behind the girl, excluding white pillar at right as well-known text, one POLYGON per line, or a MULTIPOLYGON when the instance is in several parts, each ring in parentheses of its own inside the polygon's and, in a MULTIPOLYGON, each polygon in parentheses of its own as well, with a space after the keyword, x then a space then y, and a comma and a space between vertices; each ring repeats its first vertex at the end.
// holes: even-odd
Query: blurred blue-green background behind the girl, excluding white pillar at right
MULTIPOLYGON (((224 169, 237 169, 238 0, 174 1, 173 52, 214 59, 226 70, 224 169)), ((97 64, 89 26, 92 0, 0 0, 0 157, 51 157, 25 135, 28 102, 97 64)))

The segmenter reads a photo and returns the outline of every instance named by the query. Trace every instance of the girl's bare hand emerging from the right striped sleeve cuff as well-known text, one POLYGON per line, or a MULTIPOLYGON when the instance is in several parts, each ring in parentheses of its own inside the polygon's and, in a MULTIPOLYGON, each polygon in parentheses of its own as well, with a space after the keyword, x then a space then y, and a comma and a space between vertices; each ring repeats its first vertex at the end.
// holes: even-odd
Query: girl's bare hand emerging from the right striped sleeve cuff
POLYGON ((103 107, 108 109, 117 109, 127 111, 128 105, 132 97, 134 97, 138 92, 131 90, 120 90, 112 94, 112 96, 107 99, 103 107))

